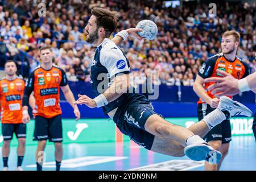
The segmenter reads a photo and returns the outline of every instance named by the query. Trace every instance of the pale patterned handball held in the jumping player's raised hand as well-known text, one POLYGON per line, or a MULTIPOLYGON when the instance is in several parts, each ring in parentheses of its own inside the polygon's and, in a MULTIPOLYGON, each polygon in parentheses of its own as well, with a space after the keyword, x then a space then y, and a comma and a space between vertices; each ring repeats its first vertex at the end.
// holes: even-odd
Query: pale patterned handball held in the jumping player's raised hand
POLYGON ((141 32, 138 32, 138 35, 147 40, 155 39, 156 34, 158 34, 158 26, 151 20, 142 20, 137 24, 136 28, 143 29, 141 32))

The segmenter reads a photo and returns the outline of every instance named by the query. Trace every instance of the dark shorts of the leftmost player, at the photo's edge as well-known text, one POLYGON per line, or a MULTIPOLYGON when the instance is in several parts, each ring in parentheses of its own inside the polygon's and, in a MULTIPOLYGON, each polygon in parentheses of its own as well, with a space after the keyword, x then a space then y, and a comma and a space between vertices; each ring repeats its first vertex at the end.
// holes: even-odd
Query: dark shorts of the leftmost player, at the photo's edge
POLYGON ((3 140, 13 139, 14 133, 16 135, 16 138, 26 138, 26 131, 27 131, 27 126, 24 123, 19 123, 19 124, 2 123, 3 140))

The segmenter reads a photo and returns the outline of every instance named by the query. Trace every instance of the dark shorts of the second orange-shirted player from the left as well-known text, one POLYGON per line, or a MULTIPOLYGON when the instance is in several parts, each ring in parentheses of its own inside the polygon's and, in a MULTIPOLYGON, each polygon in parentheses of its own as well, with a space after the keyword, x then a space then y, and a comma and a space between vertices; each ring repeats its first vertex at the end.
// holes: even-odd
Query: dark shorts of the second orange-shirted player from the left
POLYGON ((47 140, 49 142, 62 142, 61 115, 53 118, 44 118, 36 115, 33 140, 47 140))

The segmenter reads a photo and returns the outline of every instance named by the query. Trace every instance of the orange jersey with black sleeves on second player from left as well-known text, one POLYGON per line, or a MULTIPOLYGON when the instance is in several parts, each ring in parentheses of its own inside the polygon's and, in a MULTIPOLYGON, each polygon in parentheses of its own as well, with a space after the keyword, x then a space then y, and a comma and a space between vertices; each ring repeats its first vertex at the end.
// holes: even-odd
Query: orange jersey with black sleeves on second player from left
POLYGON ((30 73, 26 81, 25 94, 29 97, 34 91, 35 108, 33 114, 45 118, 60 115, 60 86, 65 85, 67 85, 65 72, 56 65, 53 65, 49 70, 39 66, 30 73))

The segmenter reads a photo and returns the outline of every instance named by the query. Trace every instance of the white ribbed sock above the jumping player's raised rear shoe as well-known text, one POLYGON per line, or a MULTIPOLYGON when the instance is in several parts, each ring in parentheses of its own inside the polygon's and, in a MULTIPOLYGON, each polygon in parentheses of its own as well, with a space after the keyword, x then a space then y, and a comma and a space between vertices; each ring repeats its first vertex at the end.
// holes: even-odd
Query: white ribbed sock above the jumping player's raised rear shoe
POLYGON ((226 115, 220 109, 215 109, 207 114, 202 121, 204 121, 211 130, 214 126, 220 124, 225 119, 226 115))

